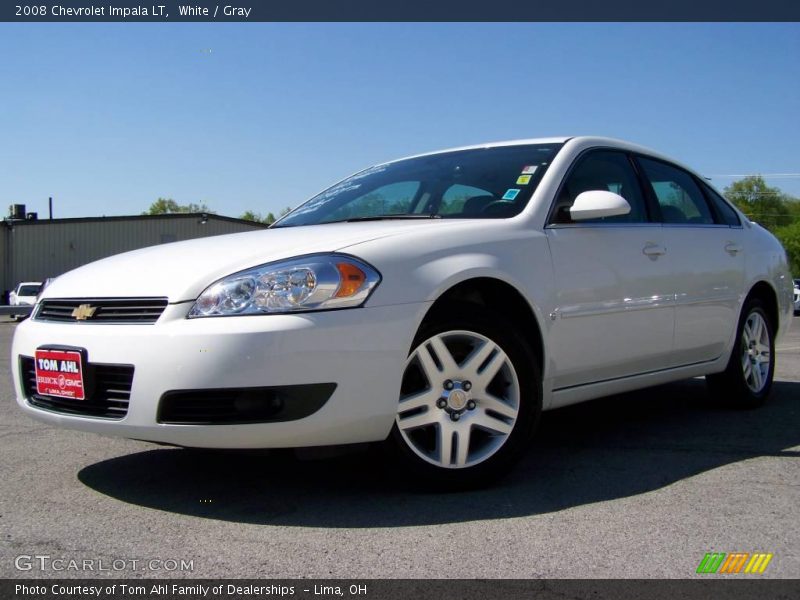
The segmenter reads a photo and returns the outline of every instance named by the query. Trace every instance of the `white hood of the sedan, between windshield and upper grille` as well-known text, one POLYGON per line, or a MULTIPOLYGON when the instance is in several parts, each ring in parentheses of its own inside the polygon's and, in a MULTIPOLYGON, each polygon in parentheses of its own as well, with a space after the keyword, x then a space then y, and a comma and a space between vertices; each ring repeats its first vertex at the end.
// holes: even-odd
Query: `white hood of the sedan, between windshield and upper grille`
POLYGON ((285 227, 150 246, 90 263, 54 279, 42 298, 167 297, 194 300, 214 281, 265 263, 455 221, 369 221, 285 227))

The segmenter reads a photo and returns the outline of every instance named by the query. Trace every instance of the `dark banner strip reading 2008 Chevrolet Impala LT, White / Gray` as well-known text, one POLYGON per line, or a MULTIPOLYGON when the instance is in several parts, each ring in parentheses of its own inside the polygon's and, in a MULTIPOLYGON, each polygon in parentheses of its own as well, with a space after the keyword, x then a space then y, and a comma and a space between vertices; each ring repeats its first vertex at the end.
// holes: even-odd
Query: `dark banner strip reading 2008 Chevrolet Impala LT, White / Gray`
POLYGON ((800 21, 793 0, 3 0, 0 21, 800 21))

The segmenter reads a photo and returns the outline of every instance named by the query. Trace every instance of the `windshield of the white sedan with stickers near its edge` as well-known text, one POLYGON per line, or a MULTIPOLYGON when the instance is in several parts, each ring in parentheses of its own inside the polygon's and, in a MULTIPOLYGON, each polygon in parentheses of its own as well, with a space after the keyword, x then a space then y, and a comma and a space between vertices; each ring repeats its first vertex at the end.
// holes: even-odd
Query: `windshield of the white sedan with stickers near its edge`
POLYGON ((443 152, 377 165, 302 204, 274 227, 519 214, 562 144, 443 152))

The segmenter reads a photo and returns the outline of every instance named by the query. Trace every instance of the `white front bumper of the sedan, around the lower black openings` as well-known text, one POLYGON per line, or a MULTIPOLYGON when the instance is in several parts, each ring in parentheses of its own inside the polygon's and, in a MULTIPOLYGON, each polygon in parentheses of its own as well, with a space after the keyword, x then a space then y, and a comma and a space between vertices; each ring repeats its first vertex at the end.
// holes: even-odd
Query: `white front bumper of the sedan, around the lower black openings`
MULTIPOLYGON (((153 325, 28 320, 18 326, 12 373, 19 406, 46 423, 106 435, 204 448, 323 446, 385 439, 397 410, 403 367, 428 304, 295 315, 186 319, 170 305, 153 325), (120 420, 32 406, 20 356, 42 346, 84 348, 90 363, 135 367, 120 420), (243 425, 158 422, 169 391, 335 383, 330 399, 297 420, 243 425)), ((79 402, 79 401, 76 401, 79 402)))

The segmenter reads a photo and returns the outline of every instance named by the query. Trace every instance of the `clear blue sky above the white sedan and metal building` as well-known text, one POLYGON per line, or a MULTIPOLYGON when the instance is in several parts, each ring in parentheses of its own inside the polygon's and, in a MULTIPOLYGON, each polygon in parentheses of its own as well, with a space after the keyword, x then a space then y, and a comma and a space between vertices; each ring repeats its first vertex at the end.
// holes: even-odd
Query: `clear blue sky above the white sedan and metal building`
POLYGON ((796 23, 4 23, 0 52, 3 211, 277 213, 375 162, 547 135, 800 173, 796 23))

